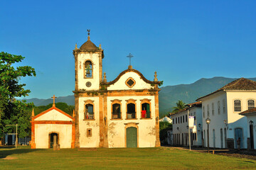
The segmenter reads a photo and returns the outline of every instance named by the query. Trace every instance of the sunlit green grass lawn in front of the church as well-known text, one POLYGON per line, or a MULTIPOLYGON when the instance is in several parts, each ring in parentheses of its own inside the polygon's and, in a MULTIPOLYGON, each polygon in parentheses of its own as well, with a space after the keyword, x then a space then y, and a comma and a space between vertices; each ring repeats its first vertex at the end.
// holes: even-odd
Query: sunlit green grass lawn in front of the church
POLYGON ((256 161, 169 147, 97 151, 18 147, 0 148, 0 169, 256 169, 256 161))

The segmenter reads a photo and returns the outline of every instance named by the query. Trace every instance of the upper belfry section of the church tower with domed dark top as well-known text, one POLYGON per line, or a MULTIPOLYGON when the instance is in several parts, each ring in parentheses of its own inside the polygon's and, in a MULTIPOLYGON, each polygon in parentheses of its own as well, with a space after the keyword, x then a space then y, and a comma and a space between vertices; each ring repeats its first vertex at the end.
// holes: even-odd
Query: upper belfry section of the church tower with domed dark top
POLYGON ((75 91, 97 91, 102 82, 103 50, 88 39, 80 48, 75 45, 75 91))

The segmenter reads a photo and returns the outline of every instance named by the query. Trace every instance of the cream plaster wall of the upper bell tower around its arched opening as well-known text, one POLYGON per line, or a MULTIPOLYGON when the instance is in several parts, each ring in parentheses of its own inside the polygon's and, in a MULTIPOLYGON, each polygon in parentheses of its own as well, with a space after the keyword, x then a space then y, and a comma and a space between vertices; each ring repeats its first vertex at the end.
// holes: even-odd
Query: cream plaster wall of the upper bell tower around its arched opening
POLYGON ((78 89, 98 90, 100 83, 100 67, 99 67, 99 55, 97 53, 81 53, 78 55, 78 89), (92 78, 84 78, 85 61, 90 60, 92 62, 92 78), (86 82, 90 81, 92 86, 85 86, 86 82))

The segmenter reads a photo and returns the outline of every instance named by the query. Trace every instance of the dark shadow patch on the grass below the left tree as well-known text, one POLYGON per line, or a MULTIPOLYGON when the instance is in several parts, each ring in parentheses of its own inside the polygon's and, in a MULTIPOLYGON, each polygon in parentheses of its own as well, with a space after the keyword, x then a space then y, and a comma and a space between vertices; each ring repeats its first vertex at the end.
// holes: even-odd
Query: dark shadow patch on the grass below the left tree
POLYGON ((34 152, 36 149, 28 149, 26 147, 21 147, 15 149, 15 147, 0 147, 0 159, 4 159, 11 154, 26 154, 28 152, 34 152))

